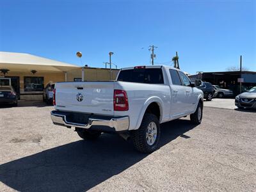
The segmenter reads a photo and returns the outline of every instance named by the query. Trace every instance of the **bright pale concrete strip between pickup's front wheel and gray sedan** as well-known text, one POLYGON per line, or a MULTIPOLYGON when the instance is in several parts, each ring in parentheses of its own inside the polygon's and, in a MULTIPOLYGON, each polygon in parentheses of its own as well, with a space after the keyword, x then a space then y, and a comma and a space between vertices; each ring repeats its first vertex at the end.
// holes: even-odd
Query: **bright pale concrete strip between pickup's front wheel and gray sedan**
POLYGON ((223 108, 223 109, 236 109, 235 99, 220 99, 214 98, 211 101, 204 102, 204 106, 212 107, 212 108, 223 108))

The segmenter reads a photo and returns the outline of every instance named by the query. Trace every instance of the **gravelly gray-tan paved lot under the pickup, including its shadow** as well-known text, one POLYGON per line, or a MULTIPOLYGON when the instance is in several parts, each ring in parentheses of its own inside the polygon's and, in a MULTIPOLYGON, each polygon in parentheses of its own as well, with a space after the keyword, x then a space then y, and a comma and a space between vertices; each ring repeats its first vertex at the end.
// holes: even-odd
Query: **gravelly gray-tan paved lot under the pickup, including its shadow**
POLYGON ((161 125, 145 155, 116 135, 82 141, 36 105, 0 109, 0 191, 256 191, 255 111, 205 107, 201 125, 161 125))

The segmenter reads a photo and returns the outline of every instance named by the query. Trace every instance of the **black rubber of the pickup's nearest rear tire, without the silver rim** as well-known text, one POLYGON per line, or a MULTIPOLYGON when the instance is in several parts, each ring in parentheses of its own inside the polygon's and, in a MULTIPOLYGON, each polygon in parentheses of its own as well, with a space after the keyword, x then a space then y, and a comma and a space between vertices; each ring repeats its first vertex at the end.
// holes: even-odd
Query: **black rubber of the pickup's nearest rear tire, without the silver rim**
POLYGON ((131 132, 132 142, 134 144, 134 148, 142 153, 150 153, 154 152, 159 147, 159 138, 160 138, 160 125, 159 120, 156 115, 151 113, 146 113, 141 122, 140 128, 138 130, 134 130, 131 132), (156 124, 156 139, 152 145, 148 144, 147 141, 147 131, 148 125, 154 122, 156 124))

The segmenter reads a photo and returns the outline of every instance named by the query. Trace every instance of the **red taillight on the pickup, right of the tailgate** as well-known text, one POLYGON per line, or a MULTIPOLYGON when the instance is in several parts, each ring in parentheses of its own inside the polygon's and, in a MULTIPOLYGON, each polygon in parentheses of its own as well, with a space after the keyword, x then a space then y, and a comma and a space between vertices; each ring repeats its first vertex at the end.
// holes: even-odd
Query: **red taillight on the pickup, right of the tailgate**
POLYGON ((128 97, 124 90, 114 90, 114 111, 128 111, 128 97))

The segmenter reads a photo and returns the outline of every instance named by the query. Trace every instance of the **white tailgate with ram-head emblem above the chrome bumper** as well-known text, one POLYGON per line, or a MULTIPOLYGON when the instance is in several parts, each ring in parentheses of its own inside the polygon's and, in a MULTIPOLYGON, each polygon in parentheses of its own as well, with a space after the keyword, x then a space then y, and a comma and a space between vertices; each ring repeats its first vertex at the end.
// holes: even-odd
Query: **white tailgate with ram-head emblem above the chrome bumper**
POLYGON ((56 83, 56 109, 114 115, 114 84, 115 82, 56 83))

